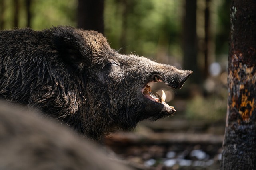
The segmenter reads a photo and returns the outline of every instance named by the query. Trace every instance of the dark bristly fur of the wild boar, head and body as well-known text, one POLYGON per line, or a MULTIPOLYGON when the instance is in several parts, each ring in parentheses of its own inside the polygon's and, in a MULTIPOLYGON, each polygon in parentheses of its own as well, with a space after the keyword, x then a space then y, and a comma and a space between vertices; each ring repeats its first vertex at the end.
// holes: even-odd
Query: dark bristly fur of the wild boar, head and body
POLYGON ((99 140, 175 111, 144 97, 154 77, 181 88, 191 71, 121 55, 96 31, 53 27, 0 31, 0 98, 38 108, 99 140))

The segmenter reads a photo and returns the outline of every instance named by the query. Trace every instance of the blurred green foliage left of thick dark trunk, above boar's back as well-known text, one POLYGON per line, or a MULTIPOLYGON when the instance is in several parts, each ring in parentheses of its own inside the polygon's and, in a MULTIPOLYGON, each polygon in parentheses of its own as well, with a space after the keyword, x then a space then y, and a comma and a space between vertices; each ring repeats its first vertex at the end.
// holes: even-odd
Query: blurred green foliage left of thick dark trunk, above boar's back
MULTIPOLYGON (((4 1, 4 29, 12 29, 14 21, 14 1, 4 1)), ((25 1, 19 1, 18 27, 26 27, 25 1)), ((32 0, 30 11, 32 14, 31 27, 45 29, 57 25, 76 26, 76 0, 32 0)))

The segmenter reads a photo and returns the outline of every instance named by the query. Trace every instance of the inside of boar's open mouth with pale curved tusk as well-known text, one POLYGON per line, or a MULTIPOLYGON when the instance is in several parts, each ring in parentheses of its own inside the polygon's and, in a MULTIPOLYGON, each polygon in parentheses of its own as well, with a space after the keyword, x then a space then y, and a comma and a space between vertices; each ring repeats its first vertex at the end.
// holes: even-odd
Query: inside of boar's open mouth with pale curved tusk
MULTIPOLYGON (((159 78, 155 77, 152 82, 162 82, 162 80, 160 80, 159 78)), ((169 106, 165 102, 166 94, 165 94, 164 90, 162 90, 162 96, 160 96, 160 94, 158 94, 158 92, 156 92, 156 96, 154 96, 151 92, 152 92, 151 91, 151 87, 148 84, 146 84, 146 86, 144 88, 142 88, 142 93, 143 93, 143 95, 146 98, 148 98, 149 100, 151 100, 153 102, 156 102, 156 103, 159 103, 159 104, 163 104, 165 107, 170 108, 170 109, 176 111, 173 106, 169 106)))

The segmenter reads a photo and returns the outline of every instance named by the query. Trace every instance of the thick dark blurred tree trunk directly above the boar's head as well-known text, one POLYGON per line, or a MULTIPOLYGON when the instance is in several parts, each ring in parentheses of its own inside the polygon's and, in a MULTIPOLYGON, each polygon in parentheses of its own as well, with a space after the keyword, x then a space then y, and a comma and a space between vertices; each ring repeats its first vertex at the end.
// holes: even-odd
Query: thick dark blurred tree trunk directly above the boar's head
POLYGON ((78 27, 104 33, 104 0, 78 0, 78 27))

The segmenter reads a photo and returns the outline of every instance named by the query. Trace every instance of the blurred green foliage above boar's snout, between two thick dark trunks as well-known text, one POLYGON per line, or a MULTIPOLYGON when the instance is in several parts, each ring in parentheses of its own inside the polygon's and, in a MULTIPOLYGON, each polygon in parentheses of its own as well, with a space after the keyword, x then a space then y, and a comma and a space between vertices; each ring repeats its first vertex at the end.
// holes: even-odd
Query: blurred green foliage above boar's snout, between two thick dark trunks
POLYGON ((172 49, 179 43, 181 11, 182 1, 106 0, 105 34, 111 46, 124 48, 124 53, 156 56, 158 45, 172 49), (121 47, 122 41, 128 46, 121 47))

